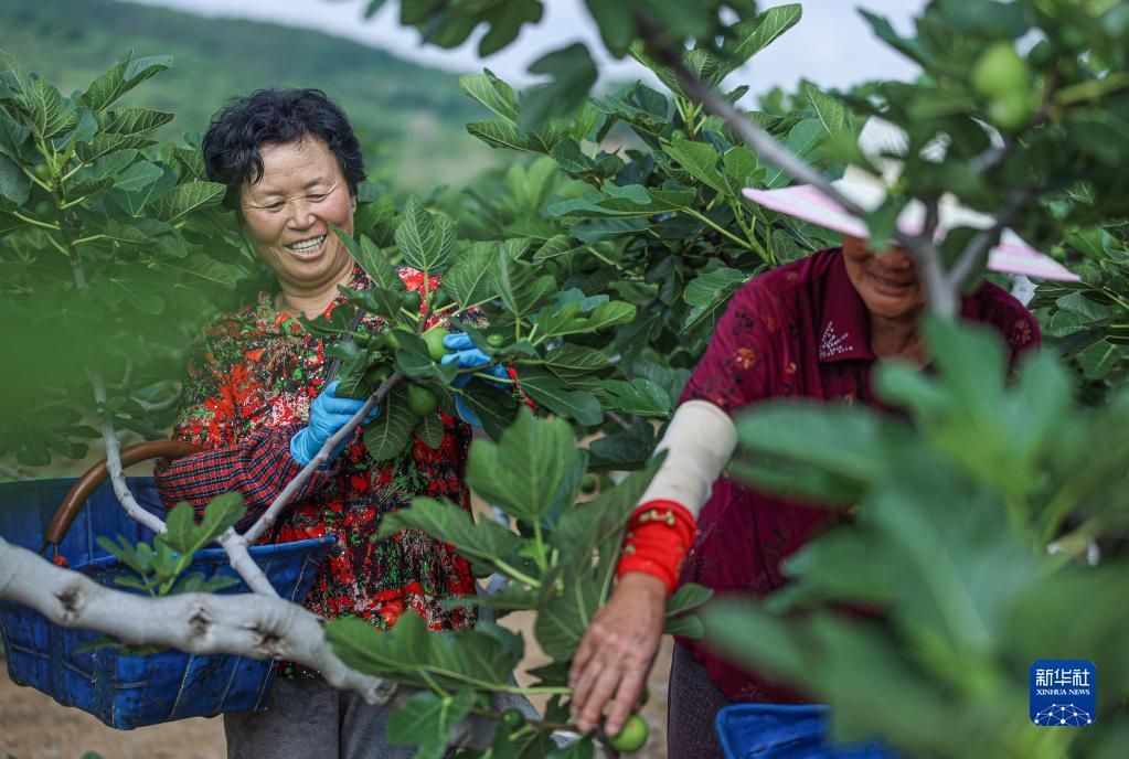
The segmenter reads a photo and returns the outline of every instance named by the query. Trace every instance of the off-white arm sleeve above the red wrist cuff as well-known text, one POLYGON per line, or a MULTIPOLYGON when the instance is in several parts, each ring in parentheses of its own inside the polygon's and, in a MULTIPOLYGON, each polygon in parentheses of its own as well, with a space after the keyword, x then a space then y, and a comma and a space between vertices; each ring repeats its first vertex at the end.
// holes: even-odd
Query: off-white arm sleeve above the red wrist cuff
POLYGON ((736 447, 737 430, 728 414, 706 400, 688 400, 655 448, 666 451, 666 460, 639 503, 674 501, 697 519, 736 447))

